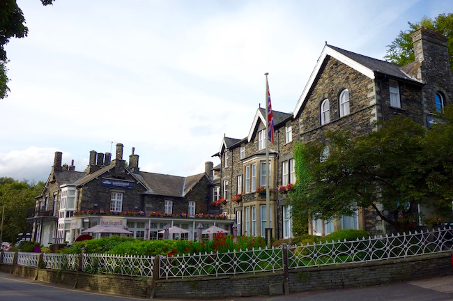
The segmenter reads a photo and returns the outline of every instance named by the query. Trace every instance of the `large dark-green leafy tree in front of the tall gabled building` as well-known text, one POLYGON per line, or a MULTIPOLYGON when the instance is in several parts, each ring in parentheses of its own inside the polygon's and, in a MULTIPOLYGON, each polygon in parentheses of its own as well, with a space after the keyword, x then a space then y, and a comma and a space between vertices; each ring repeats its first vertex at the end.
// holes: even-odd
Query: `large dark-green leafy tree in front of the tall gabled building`
POLYGON ((410 118, 397 117, 362 137, 327 133, 328 156, 321 155, 320 142, 307 143, 303 156, 311 180, 305 190, 290 194, 298 206, 293 219, 330 220, 371 207, 394 229, 407 231, 417 221, 417 204, 451 215, 453 112, 445 111, 440 118, 447 121, 428 133, 410 118))

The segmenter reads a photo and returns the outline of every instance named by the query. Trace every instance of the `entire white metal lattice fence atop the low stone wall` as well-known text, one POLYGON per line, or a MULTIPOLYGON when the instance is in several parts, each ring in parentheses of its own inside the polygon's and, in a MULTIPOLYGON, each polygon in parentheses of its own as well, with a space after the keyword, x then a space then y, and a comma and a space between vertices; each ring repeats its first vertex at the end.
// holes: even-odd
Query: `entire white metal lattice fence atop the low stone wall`
MULTIPOLYGON (((438 229, 397 236, 379 236, 354 241, 323 242, 312 245, 272 247, 227 253, 159 256, 119 256, 83 254, 82 272, 136 277, 153 277, 158 268, 160 279, 197 276, 236 275, 312 266, 381 261, 419 254, 431 254, 453 249, 453 229, 438 229)), ((17 253, 17 264, 36 267, 38 253, 17 253)), ((15 252, 3 252, 3 263, 14 264, 15 252)), ((79 256, 75 254, 43 254, 43 267, 58 270, 77 270, 79 256)))

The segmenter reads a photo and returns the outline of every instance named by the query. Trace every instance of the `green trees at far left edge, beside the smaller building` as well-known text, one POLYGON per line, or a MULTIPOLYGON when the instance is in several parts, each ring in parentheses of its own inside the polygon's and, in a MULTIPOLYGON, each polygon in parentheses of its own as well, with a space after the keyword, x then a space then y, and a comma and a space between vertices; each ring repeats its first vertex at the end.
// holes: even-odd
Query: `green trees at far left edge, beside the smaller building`
MULTIPOLYGON (((4 241, 14 242, 18 233, 27 229, 26 215, 35 206, 35 197, 43 190, 44 183, 19 182, 13 178, 0 178, 0 210, 5 215, 3 219, 4 241)), ((1 215, 0 215, 1 216, 1 215)))

